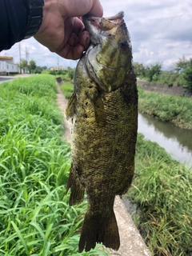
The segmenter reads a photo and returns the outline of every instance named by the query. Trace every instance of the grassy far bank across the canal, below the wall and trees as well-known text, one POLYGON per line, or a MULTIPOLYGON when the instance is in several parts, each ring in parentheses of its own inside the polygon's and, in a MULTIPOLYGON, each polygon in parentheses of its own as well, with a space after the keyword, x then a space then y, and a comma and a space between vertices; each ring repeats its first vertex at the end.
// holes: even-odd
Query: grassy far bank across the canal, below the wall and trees
POLYGON ((146 92, 139 86, 138 98, 141 112, 181 128, 192 129, 192 98, 146 92))

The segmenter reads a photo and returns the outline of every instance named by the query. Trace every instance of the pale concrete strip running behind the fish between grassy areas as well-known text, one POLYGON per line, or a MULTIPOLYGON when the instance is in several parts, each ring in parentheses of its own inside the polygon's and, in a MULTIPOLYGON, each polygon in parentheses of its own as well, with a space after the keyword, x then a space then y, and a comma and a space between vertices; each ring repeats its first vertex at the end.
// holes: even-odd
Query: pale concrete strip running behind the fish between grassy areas
MULTIPOLYGON (((62 94, 62 90, 58 86, 58 107, 64 111, 66 109, 66 98, 62 94)), ((71 142, 71 122, 64 118, 65 122, 65 134, 67 142, 71 142)), ((121 246, 118 251, 108 250, 109 255, 113 256, 151 256, 150 251, 147 249, 145 242, 143 242, 141 235, 138 232, 134 222, 128 214, 126 207, 119 197, 115 198, 114 202, 114 214, 118 222, 118 230, 120 234, 121 246)))

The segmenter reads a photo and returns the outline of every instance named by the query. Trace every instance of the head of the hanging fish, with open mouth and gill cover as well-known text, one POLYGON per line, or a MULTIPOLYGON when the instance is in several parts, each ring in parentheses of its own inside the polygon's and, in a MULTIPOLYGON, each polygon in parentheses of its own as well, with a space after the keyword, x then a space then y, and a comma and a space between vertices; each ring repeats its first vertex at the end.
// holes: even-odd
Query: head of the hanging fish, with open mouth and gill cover
POLYGON ((105 92, 121 86, 132 67, 130 35, 123 16, 120 12, 110 18, 83 17, 91 41, 86 51, 86 69, 105 92))

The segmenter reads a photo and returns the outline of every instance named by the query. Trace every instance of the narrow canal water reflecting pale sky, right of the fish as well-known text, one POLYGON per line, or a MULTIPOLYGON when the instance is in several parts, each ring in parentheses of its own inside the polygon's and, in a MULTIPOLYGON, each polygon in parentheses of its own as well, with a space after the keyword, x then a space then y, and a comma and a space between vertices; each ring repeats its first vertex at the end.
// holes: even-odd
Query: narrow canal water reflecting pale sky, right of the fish
POLYGON ((158 144, 179 162, 192 166, 192 130, 183 130, 147 114, 138 114, 138 132, 158 144))

